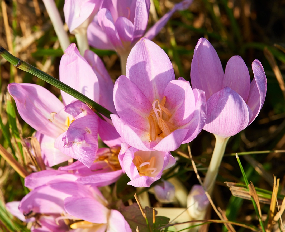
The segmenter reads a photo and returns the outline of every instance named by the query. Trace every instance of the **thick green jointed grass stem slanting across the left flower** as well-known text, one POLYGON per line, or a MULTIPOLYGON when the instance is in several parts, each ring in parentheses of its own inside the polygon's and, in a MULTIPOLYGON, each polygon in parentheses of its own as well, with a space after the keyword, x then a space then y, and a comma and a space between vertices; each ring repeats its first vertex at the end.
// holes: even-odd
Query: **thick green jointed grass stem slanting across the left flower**
POLYGON ((100 114, 102 114, 107 118, 111 119, 110 114, 113 114, 112 112, 110 112, 103 106, 99 105, 98 103, 94 102, 90 98, 86 97, 82 93, 78 92, 77 90, 72 89, 68 85, 52 77, 51 75, 48 75, 47 73, 41 71, 40 69, 37 69, 36 67, 30 65, 29 63, 13 56, 3 47, 0 47, 0 56, 7 59, 7 61, 9 61, 15 67, 35 75, 36 77, 46 81, 47 83, 50 83, 51 85, 57 87, 58 89, 64 91, 65 93, 68 93, 72 97, 75 97, 76 99, 88 104, 95 110, 95 113, 97 113, 98 116, 101 116, 100 114))

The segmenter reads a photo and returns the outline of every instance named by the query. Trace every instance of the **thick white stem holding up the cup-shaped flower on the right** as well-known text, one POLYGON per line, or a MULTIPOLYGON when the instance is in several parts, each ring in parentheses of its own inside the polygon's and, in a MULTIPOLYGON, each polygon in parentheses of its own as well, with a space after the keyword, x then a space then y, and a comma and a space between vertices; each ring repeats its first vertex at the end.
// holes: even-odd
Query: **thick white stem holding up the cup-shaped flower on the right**
POLYGON ((220 168, 221 161, 222 161, 224 153, 225 153, 227 142, 230 138, 230 137, 223 138, 219 135, 215 135, 215 137, 216 137, 215 148, 213 151, 213 155, 211 158, 211 162, 210 162, 208 171, 207 171, 205 179, 204 179, 204 187, 205 187, 205 189, 207 189, 207 192, 210 195, 213 192, 213 189, 215 186, 215 180, 216 180, 217 174, 219 172, 219 168, 220 168))

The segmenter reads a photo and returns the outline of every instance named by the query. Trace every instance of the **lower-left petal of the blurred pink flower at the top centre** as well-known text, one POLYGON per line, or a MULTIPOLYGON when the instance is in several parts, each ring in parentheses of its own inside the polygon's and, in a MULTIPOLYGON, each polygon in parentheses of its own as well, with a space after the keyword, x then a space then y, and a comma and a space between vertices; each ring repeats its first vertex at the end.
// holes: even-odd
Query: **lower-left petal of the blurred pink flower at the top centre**
POLYGON ((114 50, 107 34, 102 30, 97 21, 97 15, 95 15, 87 28, 87 39, 93 48, 114 50))

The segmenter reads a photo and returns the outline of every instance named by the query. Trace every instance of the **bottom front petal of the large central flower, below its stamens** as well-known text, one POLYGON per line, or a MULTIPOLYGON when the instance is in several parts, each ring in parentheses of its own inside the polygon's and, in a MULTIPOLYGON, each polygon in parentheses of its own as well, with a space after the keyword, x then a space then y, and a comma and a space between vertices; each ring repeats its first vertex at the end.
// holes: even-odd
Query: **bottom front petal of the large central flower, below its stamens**
POLYGON ((159 143, 150 143, 150 147, 157 151, 174 151, 180 147, 183 142, 188 129, 176 129, 170 135, 164 137, 159 143))

